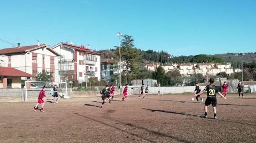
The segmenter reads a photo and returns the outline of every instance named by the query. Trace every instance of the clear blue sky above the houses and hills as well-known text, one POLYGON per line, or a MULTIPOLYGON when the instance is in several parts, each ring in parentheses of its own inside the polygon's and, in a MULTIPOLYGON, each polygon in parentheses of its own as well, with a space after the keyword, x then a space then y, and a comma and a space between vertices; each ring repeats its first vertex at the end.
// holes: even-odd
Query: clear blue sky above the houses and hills
POLYGON ((0 1, 0 39, 22 46, 109 49, 117 32, 132 35, 137 48, 176 56, 256 52, 256 0, 0 1))

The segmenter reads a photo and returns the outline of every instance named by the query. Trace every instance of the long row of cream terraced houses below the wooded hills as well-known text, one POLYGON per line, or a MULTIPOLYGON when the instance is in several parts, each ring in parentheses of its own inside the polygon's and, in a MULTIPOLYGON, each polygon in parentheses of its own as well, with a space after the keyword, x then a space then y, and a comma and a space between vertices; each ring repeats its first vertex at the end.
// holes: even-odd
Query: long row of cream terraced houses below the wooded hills
MULTIPOLYGON (((220 72, 226 74, 234 73, 230 63, 174 63, 162 64, 165 72, 178 70, 182 76, 191 76, 196 73, 201 73, 203 76, 216 75, 220 72)), ((154 71, 159 65, 147 64, 147 69, 154 71)))

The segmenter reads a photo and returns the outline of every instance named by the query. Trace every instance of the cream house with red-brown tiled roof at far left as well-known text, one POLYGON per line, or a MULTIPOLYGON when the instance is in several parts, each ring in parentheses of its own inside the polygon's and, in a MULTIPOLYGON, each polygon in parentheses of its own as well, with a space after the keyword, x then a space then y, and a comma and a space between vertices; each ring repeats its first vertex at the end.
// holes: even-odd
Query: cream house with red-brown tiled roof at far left
MULTIPOLYGON (((48 44, 40 44, 39 41, 32 46, 20 46, 18 43, 17 47, 0 50, 0 65, 18 69, 34 77, 42 71, 50 71, 53 72, 52 81, 58 82, 58 56, 48 44)), ((22 77, 22 80, 26 78, 22 77)))

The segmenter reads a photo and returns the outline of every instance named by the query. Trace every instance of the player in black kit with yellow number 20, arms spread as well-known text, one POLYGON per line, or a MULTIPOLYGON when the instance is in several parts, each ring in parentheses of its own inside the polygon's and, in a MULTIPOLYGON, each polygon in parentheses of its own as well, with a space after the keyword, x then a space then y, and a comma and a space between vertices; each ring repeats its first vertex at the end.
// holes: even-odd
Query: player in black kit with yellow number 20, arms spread
POLYGON ((218 91, 217 87, 214 85, 214 79, 210 79, 210 84, 207 85, 204 90, 200 91, 200 93, 195 93, 194 96, 198 96, 204 92, 207 92, 207 98, 205 100, 205 104, 204 104, 204 110, 205 110, 205 114, 204 114, 204 118, 207 118, 207 112, 208 112, 208 105, 212 104, 213 107, 213 112, 214 112, 214 119, 217 119, 216 116, 216 106, 217 106, 217 99, 216 99, 216 93, 220 94, 221 97, 223 97, 224 99, 227 99, 226 97, 224 97, 221 92, 218 91))

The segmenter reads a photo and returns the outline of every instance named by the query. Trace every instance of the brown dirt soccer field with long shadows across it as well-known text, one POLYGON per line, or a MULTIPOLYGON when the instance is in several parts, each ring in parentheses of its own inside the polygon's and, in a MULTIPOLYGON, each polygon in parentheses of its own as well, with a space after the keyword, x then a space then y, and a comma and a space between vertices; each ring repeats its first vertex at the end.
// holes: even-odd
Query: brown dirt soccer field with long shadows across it
MULTIPOLYGON (((130 96, 99 108, 100 97, 0 103, 0 143, 255 143, 256 95, 217 99, 218 119, 190 95, 130 96)), ((206 97, 206 95, 202 95, 206 97)))

